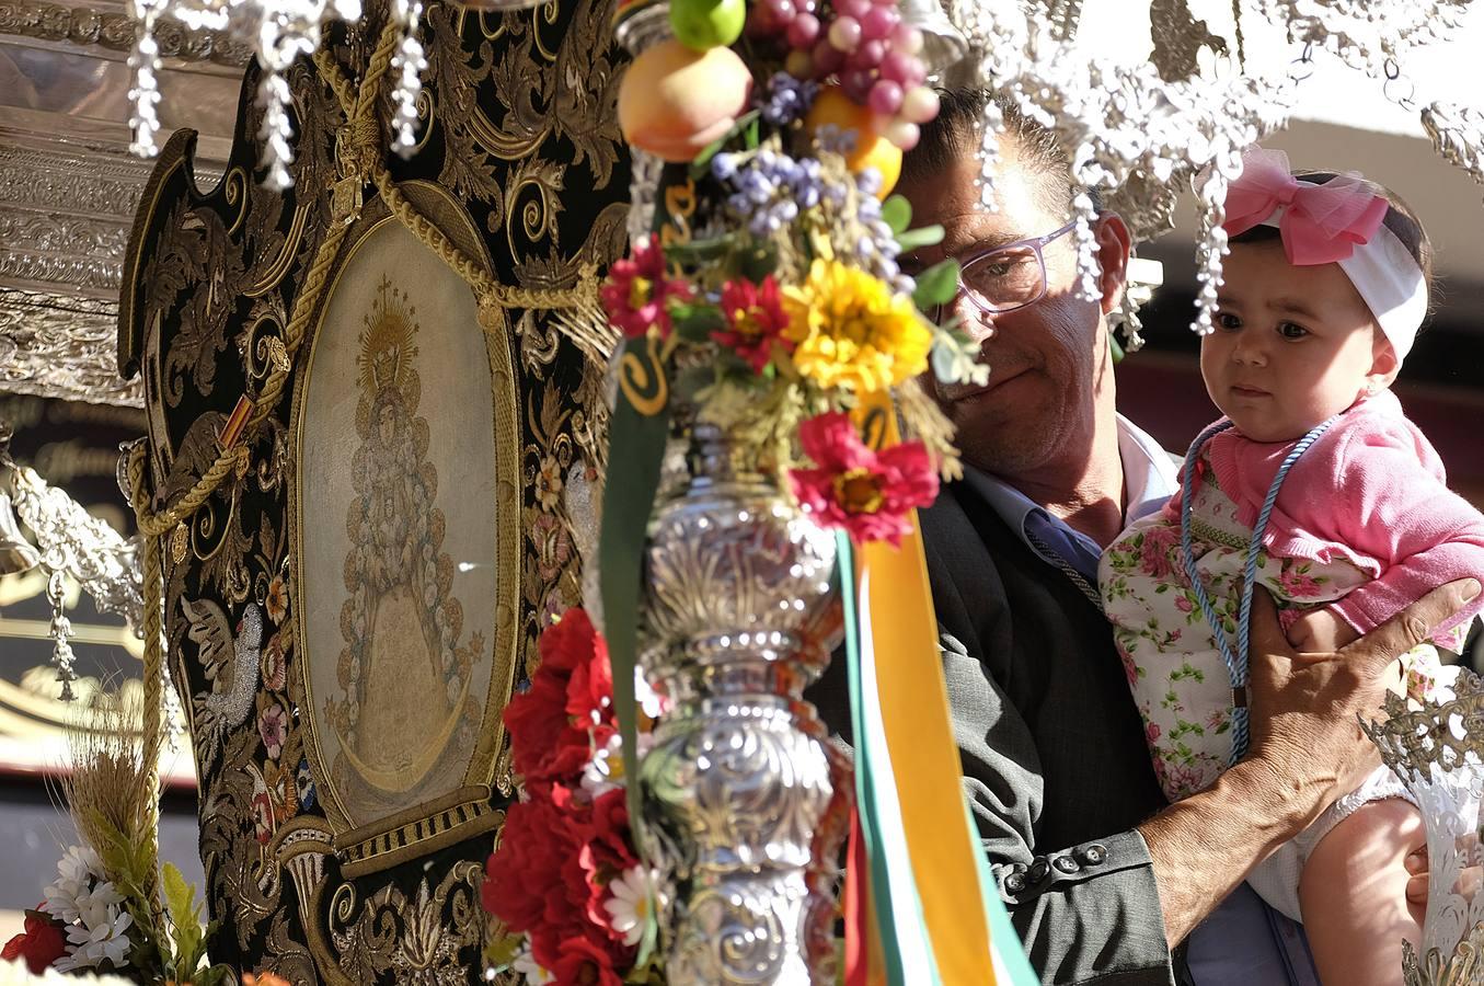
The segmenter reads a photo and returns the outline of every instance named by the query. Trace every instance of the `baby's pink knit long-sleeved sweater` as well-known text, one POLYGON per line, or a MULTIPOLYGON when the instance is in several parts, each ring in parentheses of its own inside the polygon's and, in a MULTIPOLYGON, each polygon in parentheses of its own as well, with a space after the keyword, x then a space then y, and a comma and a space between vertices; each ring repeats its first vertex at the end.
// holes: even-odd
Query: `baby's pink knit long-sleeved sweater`
MULTIPOLYGON (((1257 523, 1284 457, 1297 443, 1257 443, 1235 428, 1215 435, 1202 456, 1217 486, 1257 523)), ((1166 512, 1178 520, 1180 494, 1166 512)), ((1345 560, 1371 582, 1333 603, 1359 633, 1395 616, 1437 587, 1472 576, 1484 581, 1484 514, 1447 486, 1442 460, 1402 414, 1391 391, 1356 402, 1288 471, 1269 518, 1269 554, 1331 563, 1345 560)), ((1434 639, 1484 606, 1439 625, 1434 639)))

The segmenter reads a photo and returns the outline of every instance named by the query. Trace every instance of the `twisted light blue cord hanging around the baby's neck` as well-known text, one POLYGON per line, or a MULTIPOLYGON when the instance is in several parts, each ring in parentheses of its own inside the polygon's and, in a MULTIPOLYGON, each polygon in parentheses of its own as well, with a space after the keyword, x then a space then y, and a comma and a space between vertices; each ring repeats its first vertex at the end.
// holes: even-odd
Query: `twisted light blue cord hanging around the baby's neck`
POLYGON ((1288 471, 1298 456, 1309 450, 1319 435, 1322 435, 1330 425, 1333 425, 1340 416, 1336 414, 1330 420, 1313 428, 1307 435, 1300 438, 1294 444, 1293 450, 1284 457, 1282 465, 1278 466, 1278 474, 1273 477, 1273 484, 1267 487, 1267 496, 1263 499, 1263 509, 1257 515, 1257 523, 1252 526, 1252 541, 1247 546, 1247 566, 1242 570, 1242 606, 1236 621, 1236 647, 1232 647, 1230 639, 1226 636, 1226 630, 1221 627, 1221 619, 1217 616, 1215 607, 1211 604, 1211 597, 1205 591, 1205 585, 1201 582, 1201 572, 1196 569, 1195 552, 1190 548, 1190 517, 1192 517, 1192 497, 1195 496, 1196 487, 1196 459, 1201 456, 1201 450, 1205 448, 1206 443, 1212 437, 1226 431, 1232 426, 1232 422, 1217 422, 1211 425, 1199 438, 1190 444, 1190 451, 1186 453, 1186 468, 1181 474, 1183 483, 1180 490, 1180 557, 1186 567, 1186 578, 1190 579, 1190 588, 1195 592, 1196 601, 1201 603, 1201 612, 1205 615, 1206 622, 1211 624, 1211 634, 1215 637, 1215 644, 1221 650, 1221 659, 1226 661, 1226 671, 1232 680, 1232 760, 1236 763, 1247 753, 1247 744, 1251 726, 1248 723, 1247 711, 1247 676, 1248 676, 1248 652, 1250 652, 1250 631, 1251 631, 1251 615, 1252 615, 1252 588, 1257 582, 1257 555, 1263 549, 1263 535, 1267 532, 1267 518, 1273 512, 1273 503, 1278 500, 1278 490, 1282 487, 1284 480, 1288 477, 1288 471))

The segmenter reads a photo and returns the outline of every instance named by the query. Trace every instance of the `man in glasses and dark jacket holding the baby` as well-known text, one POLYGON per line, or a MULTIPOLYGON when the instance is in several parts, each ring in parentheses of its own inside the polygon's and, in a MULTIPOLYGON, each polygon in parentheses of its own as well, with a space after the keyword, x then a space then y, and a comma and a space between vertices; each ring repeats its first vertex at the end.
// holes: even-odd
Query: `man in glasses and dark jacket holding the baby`
MULTIPOLYGON (((899 186, 917 223, 945 230, 916 263, 963 264, 954 313, 993 368, 988 386, 938 391, 966 477, 922 515, 965 786, 1046 983, 1186 982, 1171 947, 1371 769, 1356 713, 1380 705, 1389 656, 1478 585, 1431 594, 1343 659, 1298 658, 1270 604, 1260 606, 1251 753, 1211 789, 1166 805, 1095 594, 1100 549, 1174 489, 1169 457, 1114 410, 1107 313, 1123 290, 1129 233, 1101 215, 1100 297, 1076 297, 1067 159, 1012 114, 999 209, 987 211, 975 183, 984 105, 982 94, 950 94, 899 186)), ((1301 936, 1284 949, 1282 927, 1244 892, 1223 909, 1220 934, 1202 933, 1212 938, 1202 986, 1313 982, 1291 968, 1301 936)))

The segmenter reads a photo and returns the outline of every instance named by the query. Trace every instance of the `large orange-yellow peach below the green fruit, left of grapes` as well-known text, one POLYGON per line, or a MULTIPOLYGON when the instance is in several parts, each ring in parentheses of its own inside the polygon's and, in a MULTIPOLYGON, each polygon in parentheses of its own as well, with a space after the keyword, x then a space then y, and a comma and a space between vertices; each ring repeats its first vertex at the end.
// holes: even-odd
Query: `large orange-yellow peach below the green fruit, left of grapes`
POLYGON ((629 62, 619 86, 623 140, 665 160, 690 160, 746 110, 752 73, 730 48, 692 50, 668 39, 629 62))

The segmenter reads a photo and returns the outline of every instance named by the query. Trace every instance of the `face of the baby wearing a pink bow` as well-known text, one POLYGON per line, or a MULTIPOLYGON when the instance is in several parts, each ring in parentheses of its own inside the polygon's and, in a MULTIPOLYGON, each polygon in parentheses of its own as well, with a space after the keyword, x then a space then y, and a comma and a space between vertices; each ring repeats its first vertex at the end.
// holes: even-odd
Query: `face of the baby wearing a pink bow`
POLYGON ((1391 347, 1339 264, 1294 267, 1278 241, 1238 244, 1224 279, 1201 376, 1248 438, 1301 438, 1391 368, 1391 347))

